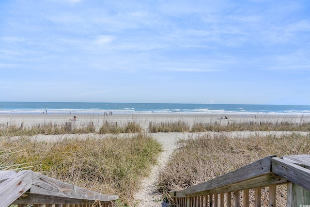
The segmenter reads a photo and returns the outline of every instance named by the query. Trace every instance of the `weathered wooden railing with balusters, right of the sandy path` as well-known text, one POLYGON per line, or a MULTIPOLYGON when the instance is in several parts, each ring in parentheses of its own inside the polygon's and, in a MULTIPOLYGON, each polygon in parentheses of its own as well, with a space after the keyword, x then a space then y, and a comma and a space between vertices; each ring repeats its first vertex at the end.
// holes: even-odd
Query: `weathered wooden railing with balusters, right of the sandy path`
POLYGON ((261 190, 268 187, 269 207, 276 207, 276 186, 280 184, 287 184, 287 207, 310 207, 310 155, 268 156, 196 186, 169 191, 169 194, 178 207, 224 207, 224 204, 239 207, 240 203, 248 207, 249 190, 254 189, 254 205, 261 207, 261 190), (240 191, 243 191, 243 202, 240 202, 240 191))

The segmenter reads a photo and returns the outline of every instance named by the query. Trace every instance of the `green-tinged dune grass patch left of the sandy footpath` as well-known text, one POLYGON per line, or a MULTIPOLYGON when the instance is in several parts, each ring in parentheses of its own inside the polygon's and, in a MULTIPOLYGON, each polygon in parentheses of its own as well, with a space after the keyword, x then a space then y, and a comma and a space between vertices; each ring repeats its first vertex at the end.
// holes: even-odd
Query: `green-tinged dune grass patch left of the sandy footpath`
MULTIPOLYGON (((34 141, 28 136, 5 139, 1 149, 19 151, 7 162, 21 164, 55 179, 105 194, 118 194, 119 205, 134 203, 140 181, 157 161, 161 144, 144 133, 133 136, 34 141), (33 164, 34 163, 34 164, 33 164)), ((10 150, 9 150, 10 151, 10 150)))

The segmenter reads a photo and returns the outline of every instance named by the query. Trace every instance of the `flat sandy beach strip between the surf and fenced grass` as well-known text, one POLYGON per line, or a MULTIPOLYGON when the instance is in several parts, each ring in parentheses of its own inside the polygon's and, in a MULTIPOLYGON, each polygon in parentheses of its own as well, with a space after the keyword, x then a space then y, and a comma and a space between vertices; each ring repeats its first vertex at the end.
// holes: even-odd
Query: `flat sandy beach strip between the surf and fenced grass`
POLYGON ((36 124, 65 124, 73 117, 77 117, 76 125, 88 124, 92 122, 94 126, 100 127, 104 122, 118 122, 126 124, 128 122, 139 123, 141 127, 149 127, 150 122, 178 122, 182 121, 188 125, 194 123, 229 124, 229 122, 310 122, 310 115, 237 115, 237 114, 0 114, 0 125, 16 125, 23 123, 24 127, 31 127, 36 124), (227 119, 225 119, 227 116, 227 119), (221 119, 223 118, 223 119, 221 119))

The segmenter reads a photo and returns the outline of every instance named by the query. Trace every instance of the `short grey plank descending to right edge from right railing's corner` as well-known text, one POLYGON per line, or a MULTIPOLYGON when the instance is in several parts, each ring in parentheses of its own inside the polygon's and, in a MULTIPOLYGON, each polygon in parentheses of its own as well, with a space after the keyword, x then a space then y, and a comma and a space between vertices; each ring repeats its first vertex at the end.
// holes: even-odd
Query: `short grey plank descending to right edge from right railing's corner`
POLYGON ((310 170, 280 158, 272 158, 272 172, 310 190, 310 170))

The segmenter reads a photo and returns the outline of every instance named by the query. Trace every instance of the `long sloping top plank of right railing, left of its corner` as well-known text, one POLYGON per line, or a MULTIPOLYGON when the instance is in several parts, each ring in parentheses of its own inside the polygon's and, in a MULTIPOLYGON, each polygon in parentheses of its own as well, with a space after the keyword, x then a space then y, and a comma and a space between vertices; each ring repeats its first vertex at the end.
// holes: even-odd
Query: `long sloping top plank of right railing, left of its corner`
POLYGON ((272 157, 274 156, 268 156, 266 158, 257 160, 251 164, 248 164, 233 172, 219 176, 215 179, 186 188, 181 191, 175 191, 176 193, 174 193, 174 191, 169 191, 169 194, 171 197, 174 197, 175 195, 177 195, 177 197, 186 197, 186 195, 194 195, 197 192, 209 191, 211 189, 220 188, 223 186, 231 185, 233 183, 241 182, 243 180, 248 180, 257 176, 268 174, 271 172, 272 157))

